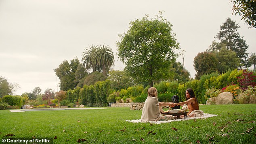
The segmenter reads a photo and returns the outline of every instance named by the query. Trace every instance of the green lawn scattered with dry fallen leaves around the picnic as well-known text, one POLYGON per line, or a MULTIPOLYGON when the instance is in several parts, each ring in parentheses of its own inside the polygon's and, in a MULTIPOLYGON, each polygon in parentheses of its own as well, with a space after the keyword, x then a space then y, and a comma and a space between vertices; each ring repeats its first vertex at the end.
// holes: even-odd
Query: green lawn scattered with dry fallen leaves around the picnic
POLYGON ((256 127, 256 104, 200 105, 200 109, 218 116, 150 124, 126 122, 126 119, 140 119, 142 112, 127 107, 22 113, 1 110, 0 138, 6 134, 14 134, 13 138, 57 136, 54 144, 73 144, 79 139, 86 140, 82 143, 107 144, 209 144, 209 138, 214 137, 211 143, 256 143, 256 128, 251 129, 256 127), (251 129, 250 133, 246 132, 248 129, 251 129), (156 134, 149 134, 149 131, 156 134))

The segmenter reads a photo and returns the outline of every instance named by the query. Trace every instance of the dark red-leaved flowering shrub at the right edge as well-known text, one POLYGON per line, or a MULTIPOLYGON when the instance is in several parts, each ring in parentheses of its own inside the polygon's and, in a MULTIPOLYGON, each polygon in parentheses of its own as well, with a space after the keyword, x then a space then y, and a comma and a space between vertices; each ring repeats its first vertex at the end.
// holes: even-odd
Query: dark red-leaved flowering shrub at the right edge
POLYGON ((252 71, 247 71, 245 69, 243 70, 242 75, 237 77, 237 82, 239 83, 239 86, 241 86, 242 90, 246 90, 248 86, 256 86, 256 76, 252 71))

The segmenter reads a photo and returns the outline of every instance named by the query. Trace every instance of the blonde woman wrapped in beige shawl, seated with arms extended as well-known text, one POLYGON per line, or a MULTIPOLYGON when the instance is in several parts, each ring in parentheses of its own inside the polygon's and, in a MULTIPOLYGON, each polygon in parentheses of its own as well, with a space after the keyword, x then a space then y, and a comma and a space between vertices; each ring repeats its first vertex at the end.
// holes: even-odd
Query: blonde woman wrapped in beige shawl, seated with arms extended
POLYGON ((157 90, 154 87, 151 87, 147 90, 147 99, 142 109, 141 121, 168 121, 172 120, 172 115, 162 116, 160 110, 162 110, 162 106, 171 106, 174 104, 170 102, 158 102, 157 90))

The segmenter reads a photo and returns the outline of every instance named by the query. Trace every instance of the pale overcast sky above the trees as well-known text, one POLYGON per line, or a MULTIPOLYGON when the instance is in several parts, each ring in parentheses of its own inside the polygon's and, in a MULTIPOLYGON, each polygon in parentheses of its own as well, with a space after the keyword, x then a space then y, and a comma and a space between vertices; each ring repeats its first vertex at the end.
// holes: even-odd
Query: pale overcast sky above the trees
MULTIPOLYGON (((194 57, 209 48, 228 17, 241 26, 247 52, 256 52, 256 29, 232 15, 232 6, 229 0, 0 0, 0 76, 19 84, 15 94, 36 87, 57 91, 54 69, 64 60, 81 62, 91 44, 109 45, 117 53, 118 35, 130 21, 164 10, 185 50, 185 69, 195 77, 194 57)), ((118 56, 114 64, 115 70, 125 67, 118 56)))

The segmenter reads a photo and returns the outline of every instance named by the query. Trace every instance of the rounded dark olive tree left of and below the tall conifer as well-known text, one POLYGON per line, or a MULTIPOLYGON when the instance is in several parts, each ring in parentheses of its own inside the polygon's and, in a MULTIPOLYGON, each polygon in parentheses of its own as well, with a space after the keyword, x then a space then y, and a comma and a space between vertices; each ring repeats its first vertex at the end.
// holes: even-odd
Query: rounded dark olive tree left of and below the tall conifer
POLYGON ((200 79, 200 77, 204 74, 209 74, 217 69, 218 59, 216 58, 216 54, 213 52, 200 52, 194 58, 194 67, 197 72, 195 75, 196 79, 200 79))

